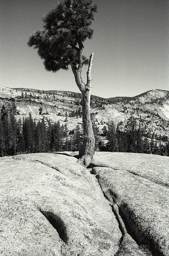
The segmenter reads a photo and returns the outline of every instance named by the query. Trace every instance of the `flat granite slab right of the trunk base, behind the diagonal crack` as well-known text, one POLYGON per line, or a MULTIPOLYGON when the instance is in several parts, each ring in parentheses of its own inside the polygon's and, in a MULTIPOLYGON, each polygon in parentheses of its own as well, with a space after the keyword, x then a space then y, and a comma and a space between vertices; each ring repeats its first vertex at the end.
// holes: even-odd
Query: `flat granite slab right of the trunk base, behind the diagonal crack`
POLYGON ((169 157, 123 152, 95 152, 91 167, 125 170, 163 186, 169 186, 169 157))

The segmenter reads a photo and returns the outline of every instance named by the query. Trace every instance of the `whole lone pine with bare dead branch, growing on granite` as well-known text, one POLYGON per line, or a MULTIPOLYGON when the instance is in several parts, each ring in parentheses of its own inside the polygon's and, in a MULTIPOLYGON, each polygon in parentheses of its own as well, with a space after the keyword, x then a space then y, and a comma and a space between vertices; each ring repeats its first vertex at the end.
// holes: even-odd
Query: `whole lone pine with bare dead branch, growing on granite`
POLYGON ((91 67, 93 52, 89 60, 83 55, 83 42, 92 38, 90 28, 97 6, 90 0, 65 0, 58 3, 43 18, 44 29, 30 36, 28 45, 38 49, 38 55, 48 71, 68 69, 70 65, 75 82, 82 93, 83 144, 79 150, 79 162, 88 165, 94 155, 95 138, 90 120, 91 67), (83 65, 88 65, 87 83, 81 78, 83 65))

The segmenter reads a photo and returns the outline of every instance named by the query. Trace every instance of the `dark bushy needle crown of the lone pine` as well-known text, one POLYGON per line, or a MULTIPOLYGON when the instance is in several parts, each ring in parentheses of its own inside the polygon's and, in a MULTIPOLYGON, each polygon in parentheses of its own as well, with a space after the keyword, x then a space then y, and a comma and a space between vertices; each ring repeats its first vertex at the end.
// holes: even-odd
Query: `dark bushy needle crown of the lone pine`
POLYGON ((47 71, 88 64, 80 49, 93 36, 90 25, 95 12, 97 6, 90 0, 65 0, 44 16, 43 30, 31 35, 27 44, 37 49, 47 71))

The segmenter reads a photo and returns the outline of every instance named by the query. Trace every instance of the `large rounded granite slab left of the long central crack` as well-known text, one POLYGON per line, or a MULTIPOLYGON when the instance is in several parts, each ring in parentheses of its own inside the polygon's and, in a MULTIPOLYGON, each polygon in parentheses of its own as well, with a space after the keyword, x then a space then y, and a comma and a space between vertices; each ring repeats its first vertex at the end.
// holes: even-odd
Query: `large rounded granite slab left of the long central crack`
POLYGON ((72 156, 0 159, 1 255, 114 255, 122 236, 94 175, 72 156))

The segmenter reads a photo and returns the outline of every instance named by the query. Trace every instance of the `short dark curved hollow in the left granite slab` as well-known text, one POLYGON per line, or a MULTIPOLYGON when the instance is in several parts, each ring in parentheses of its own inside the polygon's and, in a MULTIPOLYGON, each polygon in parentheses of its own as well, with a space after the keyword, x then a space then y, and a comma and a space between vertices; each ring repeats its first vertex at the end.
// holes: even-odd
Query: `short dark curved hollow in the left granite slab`
POLYGON ((42 209, 39 209, 39 211, 45 216, 45 218, 50 222, 50 224, 53 226, 53 228, 56 229, 58 232, 59 237, 62 239, 62 241, 66 244, 68 241, 68 236, 66 233, 66 227, 63 222, 63 220, 55 213, 50 211, 43 211, 42 209))

